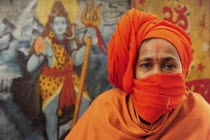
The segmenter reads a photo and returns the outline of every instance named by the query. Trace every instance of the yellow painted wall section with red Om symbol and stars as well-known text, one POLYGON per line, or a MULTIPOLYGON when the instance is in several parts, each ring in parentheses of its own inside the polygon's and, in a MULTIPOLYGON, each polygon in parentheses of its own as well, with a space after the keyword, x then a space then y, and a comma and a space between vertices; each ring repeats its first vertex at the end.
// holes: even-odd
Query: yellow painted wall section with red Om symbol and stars
POLYGON ((132 7, 177 24, 192 38, 187 86, 210 103, 210 0, 132 0, 132 7))

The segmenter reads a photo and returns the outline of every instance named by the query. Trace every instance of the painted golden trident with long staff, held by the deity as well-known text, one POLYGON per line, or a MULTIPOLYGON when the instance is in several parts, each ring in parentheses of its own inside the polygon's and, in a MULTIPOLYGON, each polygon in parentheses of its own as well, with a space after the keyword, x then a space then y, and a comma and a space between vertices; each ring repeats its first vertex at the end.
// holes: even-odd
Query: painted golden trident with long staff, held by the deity
MULTIPOLYGON (((83 24, 86 25, 86 27, 93 27, 94 29, 96 29, 97 26, 100 24, 100 21, 101 21, 101 16, 100 16, 100 11, 99 11, 100 6, 101 6, 101 4, 96 7, 96 11, 95 11, 94 10, 94 2, 92 2, 91 8, 89 10, 89 18, 87 18, 86 16, 87 16, 87 12, 88 12, 88 4, 87 4, 87 2, 85 3, 85 8, 81 15, 81 21, 83 24)), ((77 95, 77 99, 76 99, 75 111, 74 111, 74 116, 73 116, 73 121, 72 121, 72 128, 74 127, 74 125, 77 122, 78 114, 79 114, 79 110, 80 110, 82 92, 84 89, 84 84, 85 84, 87 69, 88 69, 88 61, 89 61, 89 57, 90 57, 91 42, 92 42, 92 38, 91 38, 91 36, 88 36, 86 39, 85 57, 84 57, 84 63, 82 66, 81 80, 80 80, 79 91, 78 91, 78 95, 77 95)))

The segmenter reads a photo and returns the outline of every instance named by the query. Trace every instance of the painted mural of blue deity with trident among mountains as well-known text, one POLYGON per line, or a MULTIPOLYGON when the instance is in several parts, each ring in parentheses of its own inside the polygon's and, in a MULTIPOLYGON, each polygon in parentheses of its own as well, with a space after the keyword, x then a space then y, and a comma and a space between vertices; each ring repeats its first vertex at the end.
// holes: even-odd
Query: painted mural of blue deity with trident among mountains
POLYGON ((113 88, 107 43, 128 9, 127 0, 0 1, 0 138, 65 137, 113 88))

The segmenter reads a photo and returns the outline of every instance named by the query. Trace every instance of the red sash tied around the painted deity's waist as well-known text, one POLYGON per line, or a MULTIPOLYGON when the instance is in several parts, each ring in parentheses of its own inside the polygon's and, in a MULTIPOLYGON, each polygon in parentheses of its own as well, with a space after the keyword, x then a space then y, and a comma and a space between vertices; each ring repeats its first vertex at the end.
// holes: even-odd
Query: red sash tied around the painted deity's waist
POLYGON ((65 106, 75 104, 76 95, 73 87, 72 67, 65 67, 64 70, 52 69, 47 66, 43 67, 42 74, 49 77, 66 76, 64 85, 60 94, 59 109, 65 106))

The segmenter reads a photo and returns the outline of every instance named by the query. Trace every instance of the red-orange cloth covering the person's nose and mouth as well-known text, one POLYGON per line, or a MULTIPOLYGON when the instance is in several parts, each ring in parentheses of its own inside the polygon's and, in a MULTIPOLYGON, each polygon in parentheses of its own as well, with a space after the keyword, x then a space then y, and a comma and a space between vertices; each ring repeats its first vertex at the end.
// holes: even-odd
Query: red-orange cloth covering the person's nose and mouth
POLYGON ((150 123, 176 108, 186 93, 185 77, 182 73, 154 74, 143 79, 134 79, 133 84, 135 110, 150 123))

